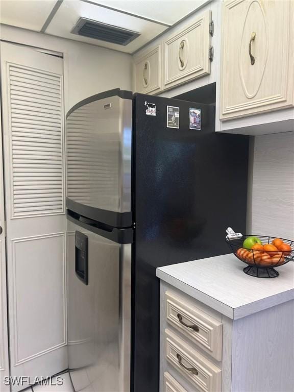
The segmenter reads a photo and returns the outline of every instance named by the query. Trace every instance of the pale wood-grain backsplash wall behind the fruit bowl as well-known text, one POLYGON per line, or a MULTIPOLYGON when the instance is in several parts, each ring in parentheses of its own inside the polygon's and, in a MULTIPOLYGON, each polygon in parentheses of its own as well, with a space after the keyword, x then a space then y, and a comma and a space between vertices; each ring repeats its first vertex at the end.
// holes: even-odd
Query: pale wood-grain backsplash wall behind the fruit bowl
POLYGON ((294 239, 294 132, 256 136, 252 233, 294 239))

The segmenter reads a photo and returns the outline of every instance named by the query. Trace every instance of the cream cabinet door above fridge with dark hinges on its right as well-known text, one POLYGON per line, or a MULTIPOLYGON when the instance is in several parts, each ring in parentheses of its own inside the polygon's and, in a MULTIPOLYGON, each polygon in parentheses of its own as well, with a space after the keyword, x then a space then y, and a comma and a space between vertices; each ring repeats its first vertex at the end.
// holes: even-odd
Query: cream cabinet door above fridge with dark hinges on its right
POLYGON ((164 40, 164 89, 210 74, 211 11, 164 40))

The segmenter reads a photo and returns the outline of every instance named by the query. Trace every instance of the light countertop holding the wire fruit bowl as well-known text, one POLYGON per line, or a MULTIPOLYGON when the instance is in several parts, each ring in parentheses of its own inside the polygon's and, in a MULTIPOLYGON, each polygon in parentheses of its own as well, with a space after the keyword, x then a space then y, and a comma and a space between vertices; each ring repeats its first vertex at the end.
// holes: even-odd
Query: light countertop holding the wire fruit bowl
POLYGON ((271 279, 244 274, 246 265, 228 254, 159 267, 156 275, 233 320, 294 299, 294 262, 271 279))

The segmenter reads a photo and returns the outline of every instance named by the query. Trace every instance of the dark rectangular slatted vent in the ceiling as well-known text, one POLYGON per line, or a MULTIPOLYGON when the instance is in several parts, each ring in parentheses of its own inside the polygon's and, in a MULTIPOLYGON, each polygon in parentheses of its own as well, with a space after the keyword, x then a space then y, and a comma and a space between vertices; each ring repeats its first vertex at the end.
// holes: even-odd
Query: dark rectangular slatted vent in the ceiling
POLYGON ((124 46, 140 35, 134 31, 86 18, 80 18, 71 33, 124 46))

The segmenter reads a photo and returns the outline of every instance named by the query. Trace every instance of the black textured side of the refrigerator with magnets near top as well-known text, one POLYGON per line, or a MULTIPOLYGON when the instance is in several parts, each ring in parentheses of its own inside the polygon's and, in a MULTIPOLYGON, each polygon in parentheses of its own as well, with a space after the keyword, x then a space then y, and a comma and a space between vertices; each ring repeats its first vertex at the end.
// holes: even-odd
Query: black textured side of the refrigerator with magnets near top
POLYGON ((213 106, 141 94, 134 101, 133 387, 157 392, 156 267, 229 253, 227 227, 245 232, 249 137, 215 133, 213 106), (167 105, 179 107, 179 129, 166 127, 167 105), (201 109, 201 130, 189 129, 189 108, 201 109))

